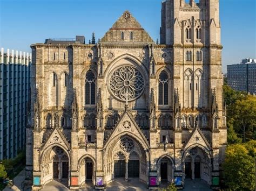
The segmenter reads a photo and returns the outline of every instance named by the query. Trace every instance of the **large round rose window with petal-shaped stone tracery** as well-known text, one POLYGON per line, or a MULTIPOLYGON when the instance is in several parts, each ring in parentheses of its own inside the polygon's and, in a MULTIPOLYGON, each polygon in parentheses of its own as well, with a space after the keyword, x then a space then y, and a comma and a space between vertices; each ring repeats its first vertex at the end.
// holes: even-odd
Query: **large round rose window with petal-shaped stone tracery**
POLYGON ((114 70, 109 83, 111 93, 121 101, 133 101, 143 93, 142 73, 132 66, 122 66, 114 70))

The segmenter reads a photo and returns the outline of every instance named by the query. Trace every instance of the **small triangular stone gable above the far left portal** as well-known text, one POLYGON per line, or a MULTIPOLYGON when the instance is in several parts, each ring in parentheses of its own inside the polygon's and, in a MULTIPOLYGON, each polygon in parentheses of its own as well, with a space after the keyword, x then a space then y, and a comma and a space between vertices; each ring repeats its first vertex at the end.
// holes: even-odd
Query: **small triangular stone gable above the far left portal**
POLYGON ((58 128, 53 129, 49 138, 46 140, 45 144, 43 145, 42 150, 54 144, 62 145, 64 148, 66 148, 66 150, 70 150, 70 143, 66 139, 63 132, 58 128))

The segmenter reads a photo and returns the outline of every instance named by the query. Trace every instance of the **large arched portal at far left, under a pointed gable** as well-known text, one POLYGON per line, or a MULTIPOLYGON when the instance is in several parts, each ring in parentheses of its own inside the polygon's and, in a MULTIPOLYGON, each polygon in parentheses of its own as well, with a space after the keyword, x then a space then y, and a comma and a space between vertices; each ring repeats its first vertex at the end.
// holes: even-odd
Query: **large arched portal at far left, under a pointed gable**
POLYGON ((69 155, 60 146, 47 150, 42 158, 42 185, 52 180, 69 186, 70 163, 69 155))

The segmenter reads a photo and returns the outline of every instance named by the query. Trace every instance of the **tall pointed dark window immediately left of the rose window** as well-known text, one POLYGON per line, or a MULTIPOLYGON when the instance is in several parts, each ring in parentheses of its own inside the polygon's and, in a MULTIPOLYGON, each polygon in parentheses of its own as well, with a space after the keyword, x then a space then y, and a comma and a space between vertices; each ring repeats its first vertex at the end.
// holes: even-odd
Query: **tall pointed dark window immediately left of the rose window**
POLYGON ((95 105, 96 83, 95 74, 89 70, 85 81, 85 104, 95 105))

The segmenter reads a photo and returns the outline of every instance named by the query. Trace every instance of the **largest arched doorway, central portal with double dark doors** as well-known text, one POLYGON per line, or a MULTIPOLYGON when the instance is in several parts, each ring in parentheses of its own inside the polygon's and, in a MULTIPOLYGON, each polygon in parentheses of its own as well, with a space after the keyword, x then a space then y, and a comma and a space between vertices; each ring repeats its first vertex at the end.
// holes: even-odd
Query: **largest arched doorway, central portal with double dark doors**
POLYGON ((105 159, 106 182, 115 178, 138 179, 146 182, 147 159, 144 148, 136 139, 123 136, 107 148, 105 159))

